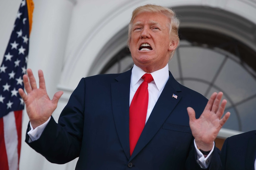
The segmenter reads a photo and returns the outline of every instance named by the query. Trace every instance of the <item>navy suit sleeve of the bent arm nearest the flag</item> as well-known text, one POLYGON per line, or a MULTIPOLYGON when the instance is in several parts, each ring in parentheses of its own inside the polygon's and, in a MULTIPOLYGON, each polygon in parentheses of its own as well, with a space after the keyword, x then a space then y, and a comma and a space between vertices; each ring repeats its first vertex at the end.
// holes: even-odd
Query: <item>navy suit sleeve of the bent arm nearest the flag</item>
MULTIPOLYGON (((82 79, 61 112, 59 123, 53 117, 38 140, 26 143, 52 163, 63 164, 80 154, 83 137, 85 83, 82 79)), ((27 132, 30 127, 28 126, 27 132)))

